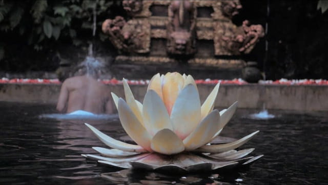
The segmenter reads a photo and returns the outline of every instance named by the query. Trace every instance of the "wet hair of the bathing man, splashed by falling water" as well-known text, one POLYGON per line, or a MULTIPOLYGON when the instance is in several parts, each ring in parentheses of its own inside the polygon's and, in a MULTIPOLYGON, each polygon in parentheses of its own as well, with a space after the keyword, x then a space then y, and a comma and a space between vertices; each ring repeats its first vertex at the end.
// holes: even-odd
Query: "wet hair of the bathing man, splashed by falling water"
POLYGON ((76 71, 81 73, 80 75, 89 75, 92 77, 97 77, 104 72, 106 65, 100 59, 94 57, 87 57, 83 62, 81 62, 76 71))

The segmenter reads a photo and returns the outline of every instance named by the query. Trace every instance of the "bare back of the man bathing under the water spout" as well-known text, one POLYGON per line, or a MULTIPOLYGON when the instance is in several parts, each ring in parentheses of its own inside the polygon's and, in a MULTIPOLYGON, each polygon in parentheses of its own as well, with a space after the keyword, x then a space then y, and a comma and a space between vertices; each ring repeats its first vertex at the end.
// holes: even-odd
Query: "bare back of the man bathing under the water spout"
POLYGON ((94 114, 112 114, 110 88, 88 75, 68 78, 61 86, 57 110, 66 113, 86 110, 94 114))

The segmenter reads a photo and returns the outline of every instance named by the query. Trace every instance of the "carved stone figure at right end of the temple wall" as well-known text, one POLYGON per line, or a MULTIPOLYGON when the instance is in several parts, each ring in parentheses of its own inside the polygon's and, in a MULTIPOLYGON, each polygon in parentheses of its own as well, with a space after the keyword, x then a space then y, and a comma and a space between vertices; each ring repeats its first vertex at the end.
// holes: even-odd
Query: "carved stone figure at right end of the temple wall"
POLYGON ((261 25, 250 25, 245 20, 235 34, 222 36, 221 40, 226 44, 223 47, 232 54, 250 53, 260 38, 264 36, 261 25))

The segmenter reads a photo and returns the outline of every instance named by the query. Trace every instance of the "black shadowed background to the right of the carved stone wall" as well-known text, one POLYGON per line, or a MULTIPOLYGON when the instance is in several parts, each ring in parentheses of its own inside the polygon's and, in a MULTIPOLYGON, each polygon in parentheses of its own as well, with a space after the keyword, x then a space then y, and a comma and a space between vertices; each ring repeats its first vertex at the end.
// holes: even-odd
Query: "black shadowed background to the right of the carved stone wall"
POLYGON ((328 11, 322 14, 318 1, 241 0, 241 4, 239 17, 264 28, 268 23, 268 34, 249 56, 258 61, 267 79, 328 79, 328 11))

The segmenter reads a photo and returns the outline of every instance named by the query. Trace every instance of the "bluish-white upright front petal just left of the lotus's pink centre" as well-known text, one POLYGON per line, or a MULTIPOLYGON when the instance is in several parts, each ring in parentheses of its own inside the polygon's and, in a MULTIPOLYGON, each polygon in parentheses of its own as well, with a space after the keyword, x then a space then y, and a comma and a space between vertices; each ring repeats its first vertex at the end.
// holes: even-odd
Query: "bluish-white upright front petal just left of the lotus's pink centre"
POLYGON ((154 90, 150 89, 146 93, 142 116, 144 126, 152 136, 164 128, 173 130, 169 113, 154 90))

